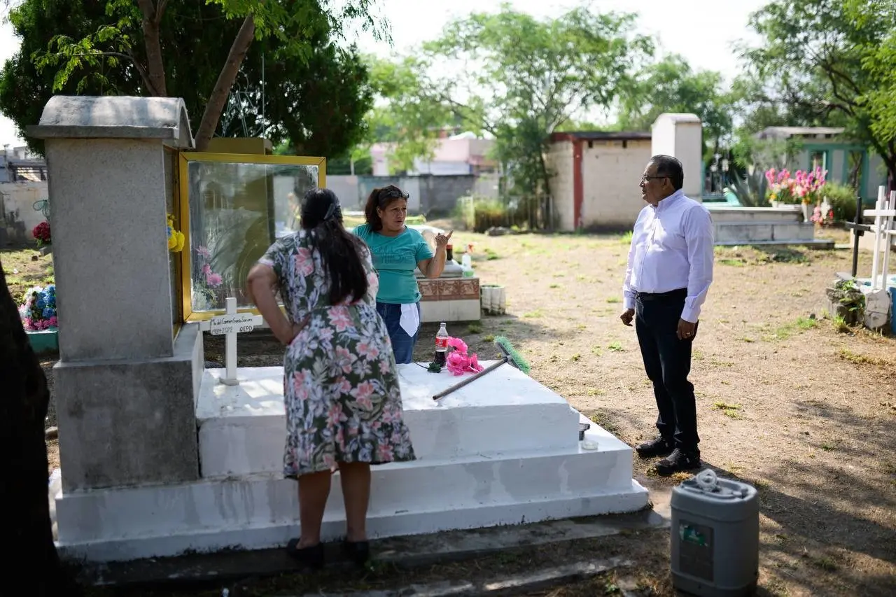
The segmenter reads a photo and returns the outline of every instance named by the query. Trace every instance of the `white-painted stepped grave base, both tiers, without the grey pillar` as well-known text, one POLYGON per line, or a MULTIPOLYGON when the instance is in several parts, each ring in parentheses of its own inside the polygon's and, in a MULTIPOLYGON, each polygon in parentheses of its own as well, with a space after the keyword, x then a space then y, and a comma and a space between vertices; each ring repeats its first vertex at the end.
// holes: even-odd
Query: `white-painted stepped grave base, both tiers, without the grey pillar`
MULTIPOLYGON (((484 366, 488 363, 484 362, 484 366)), ((632 449, 558 394, 504 366, 435 402, 460 377, 400 366, 418 460, 373 468, 372 537, 632 512, 648 503, 632 479, 632 449)), ((241 368, 240 385, 202 380, 197 422, 203 479, 161 487, 59 495, 59 548, 116 560, 186 549, 262 549, 298 534, 297 486, 280 474, 282 368, 241 368)), ((339 473, 336 473, 337 475, 339 473)), ((344 532, 333 480, 324 541, 344 532)))

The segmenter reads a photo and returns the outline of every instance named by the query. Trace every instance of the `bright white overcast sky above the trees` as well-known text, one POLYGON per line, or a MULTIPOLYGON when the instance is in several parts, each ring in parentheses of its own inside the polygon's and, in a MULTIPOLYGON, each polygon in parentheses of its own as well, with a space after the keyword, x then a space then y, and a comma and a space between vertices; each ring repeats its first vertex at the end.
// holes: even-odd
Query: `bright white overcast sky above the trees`
MULTIPOLYGON (((754 41, 747 29, 750 13, 767 0, 591 0, 590 3, 554 0, 507 0, 517 11, 536 17, 562 13, 579 4, 590 4, 600 11, 638 13, 637 28, 653 35, 662 51, 685 56, 694 69, 719 71, 730 80, 737 74, 738 61, 732 45, 738 40, 754 41), (723 8, 724 7, 724 8, 723 8)), ((496 12, 501 0, 379 0, 379 13, 391 25, 393 46, 377 42, 373 36, 360 33, 362 51, 389 56, 392 52, 408 53, 420 43, 438 37, 446 22, 471 12, 496 12), (448 7, 436 8, 437 4, 448 7)), ((5 21, 5 20, 4 20, 5 21)), ((13 56, 19 41, 8 22, 0 24, 0 64, 13 56)), ((22 145, 15 125, 0 116, 0 146, 22 145)))

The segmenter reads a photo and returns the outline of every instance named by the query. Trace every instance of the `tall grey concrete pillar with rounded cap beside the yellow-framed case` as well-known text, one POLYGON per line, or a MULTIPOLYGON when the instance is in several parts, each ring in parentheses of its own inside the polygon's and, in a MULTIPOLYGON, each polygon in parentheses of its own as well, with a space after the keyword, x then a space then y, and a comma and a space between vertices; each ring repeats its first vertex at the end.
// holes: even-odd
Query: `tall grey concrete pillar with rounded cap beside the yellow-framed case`
POLYGON ((46 140, 59 317, 63 491, 194 480, 202 336, 173 333, 165 146, 182 99, 56 96, 46 140))

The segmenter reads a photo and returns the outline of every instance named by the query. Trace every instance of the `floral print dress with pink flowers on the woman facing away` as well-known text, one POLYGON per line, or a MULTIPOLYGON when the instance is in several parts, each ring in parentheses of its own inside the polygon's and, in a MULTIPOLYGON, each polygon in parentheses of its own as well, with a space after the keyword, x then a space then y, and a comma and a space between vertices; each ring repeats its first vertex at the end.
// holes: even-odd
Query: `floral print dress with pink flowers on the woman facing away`
POLYGON ((309 318, 283 359, 283 472, 297 478, 335 471, 338 463, 414 460, 389 333, 376 313, 379 284, 370 252, 360 251, 366 296, 331 305, 312 234, 280 238, 259 260, 276 273, 289 320, 309 318))

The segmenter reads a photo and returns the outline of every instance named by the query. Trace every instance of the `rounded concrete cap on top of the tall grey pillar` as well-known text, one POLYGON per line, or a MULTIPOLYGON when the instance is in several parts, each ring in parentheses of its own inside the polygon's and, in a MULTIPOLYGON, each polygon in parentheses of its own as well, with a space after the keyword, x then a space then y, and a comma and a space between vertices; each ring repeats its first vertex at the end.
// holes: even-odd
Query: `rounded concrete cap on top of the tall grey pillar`
POLYGON ((26 133, 37 139, 159 139, 192 148, 190 119, 181 98, 55 95, 39 125, 26 133))

